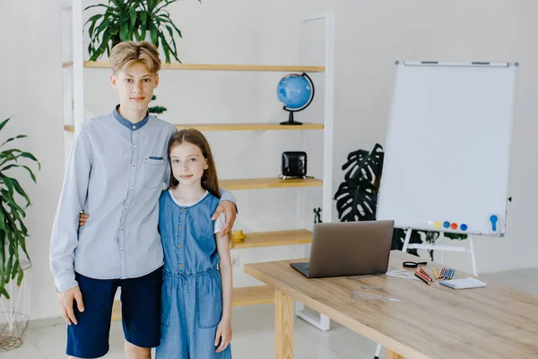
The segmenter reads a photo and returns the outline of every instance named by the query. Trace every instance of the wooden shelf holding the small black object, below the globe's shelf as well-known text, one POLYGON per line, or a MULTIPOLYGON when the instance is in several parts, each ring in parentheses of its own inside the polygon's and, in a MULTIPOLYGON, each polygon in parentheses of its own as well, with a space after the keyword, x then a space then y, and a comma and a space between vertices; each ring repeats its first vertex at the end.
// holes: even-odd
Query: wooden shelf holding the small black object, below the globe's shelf
POLYGON ((237 189, 263 189, 263 188, 295 188, 295 187, 320 187, 322 180, 316 179, 293 179, 282 180, 279 178, 268 179, 244 179, 244 180, 219 180, 219 186, 228 190, 237 189))

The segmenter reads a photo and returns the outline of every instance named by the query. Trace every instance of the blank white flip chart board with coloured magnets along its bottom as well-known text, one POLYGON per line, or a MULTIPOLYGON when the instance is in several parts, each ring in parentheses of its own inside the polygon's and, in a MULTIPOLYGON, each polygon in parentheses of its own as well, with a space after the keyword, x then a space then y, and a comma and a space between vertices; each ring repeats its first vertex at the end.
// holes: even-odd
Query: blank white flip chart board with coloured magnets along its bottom
POLYGON ((517 68, 396 62, 378 220, 504 235, 517 68))

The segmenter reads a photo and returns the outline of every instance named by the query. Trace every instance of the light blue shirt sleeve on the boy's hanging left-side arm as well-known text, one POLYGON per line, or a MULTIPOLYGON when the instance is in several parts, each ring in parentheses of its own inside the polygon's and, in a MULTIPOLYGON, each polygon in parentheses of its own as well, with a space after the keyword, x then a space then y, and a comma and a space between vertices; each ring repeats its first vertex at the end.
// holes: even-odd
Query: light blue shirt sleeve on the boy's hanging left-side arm
POLYGON ((74 134, 50 239, 50 270, 57 292, 78 285, 74 279, 74 250, 78 246, 78 220, 84 208, 91 172, 91 144, 83 126, 74 134))

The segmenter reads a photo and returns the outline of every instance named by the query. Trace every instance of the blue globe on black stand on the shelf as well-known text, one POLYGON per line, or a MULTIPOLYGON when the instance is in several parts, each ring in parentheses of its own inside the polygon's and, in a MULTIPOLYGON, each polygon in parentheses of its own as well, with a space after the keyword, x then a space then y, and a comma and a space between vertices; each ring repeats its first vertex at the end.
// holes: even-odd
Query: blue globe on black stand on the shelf
POLYGON ((281 125, 302 125, 293 118, 293 112, 306 109, 314 99, 314 83, 308 74, 288 74, 276 86, 278 100, 290 112, 288 121, 281 125))

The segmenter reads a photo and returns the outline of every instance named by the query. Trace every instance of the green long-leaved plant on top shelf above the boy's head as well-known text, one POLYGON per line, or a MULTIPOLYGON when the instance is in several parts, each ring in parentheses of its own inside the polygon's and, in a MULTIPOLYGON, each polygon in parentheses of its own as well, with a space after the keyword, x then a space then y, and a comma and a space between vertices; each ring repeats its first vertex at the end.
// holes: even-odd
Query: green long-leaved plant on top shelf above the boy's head
MULTIPOLYGON (((164 52, 165 62, 170 62, 170 55, 179 63, 178 48, 175 34, 181 38, 181 31, 170 19, 167 11, 169 4, 178 0, 108 0, 108 4, 94 4, 92 7, 102 7, 104 13, 98 13, 84 24, 89 24, 90 35, 90 61, 101 57, 105 51, 110 54, 110 49, 117 43, 126 40, 141 41, 149 33, 152 43, 164 52)), ((198 0, 201 2, 201 0, 198 0)))

